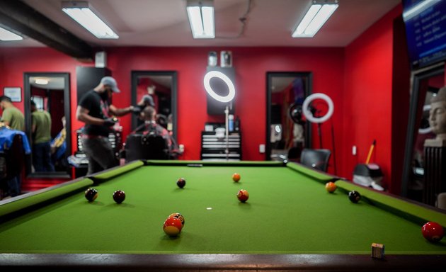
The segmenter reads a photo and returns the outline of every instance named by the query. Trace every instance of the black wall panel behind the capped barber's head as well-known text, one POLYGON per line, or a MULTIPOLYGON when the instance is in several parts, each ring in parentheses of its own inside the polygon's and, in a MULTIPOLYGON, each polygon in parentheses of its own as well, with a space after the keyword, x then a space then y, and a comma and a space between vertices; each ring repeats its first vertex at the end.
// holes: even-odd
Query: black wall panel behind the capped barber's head
POLYGON ((107 76, 111 76, 111 71, 107 68, 76 67, 77 102, 79 103, 87 91, 98 86, 101 79, 107 76))

